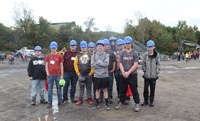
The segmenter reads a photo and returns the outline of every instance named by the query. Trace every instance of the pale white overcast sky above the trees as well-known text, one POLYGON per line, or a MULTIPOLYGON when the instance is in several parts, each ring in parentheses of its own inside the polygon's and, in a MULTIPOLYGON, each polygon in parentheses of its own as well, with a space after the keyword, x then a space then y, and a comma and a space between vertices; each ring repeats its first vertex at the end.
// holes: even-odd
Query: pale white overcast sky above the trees
POLYGON ((0 23, 13 26, 14 6, 21 2, 32 9, 35 21, 42 16, 52 23, 75 21, 82 26, 93 17, 99 30, 123 32, 127 19, 137 25, 139 11, 143 17, 166 26, 185 20, 200 30, 200 0, 1 0, 0 23))

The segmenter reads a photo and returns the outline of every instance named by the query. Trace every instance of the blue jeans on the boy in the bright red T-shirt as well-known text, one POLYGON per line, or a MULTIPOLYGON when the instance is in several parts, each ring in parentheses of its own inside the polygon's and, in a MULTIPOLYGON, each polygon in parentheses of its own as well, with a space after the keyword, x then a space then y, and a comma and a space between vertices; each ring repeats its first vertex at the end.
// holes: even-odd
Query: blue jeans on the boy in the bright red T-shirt
POLYGON ((62 102, 61 88, 59 86, 60 76, 48 76, 48 103, 52 103, 54 81, 56 83, 58 102, 62 102))

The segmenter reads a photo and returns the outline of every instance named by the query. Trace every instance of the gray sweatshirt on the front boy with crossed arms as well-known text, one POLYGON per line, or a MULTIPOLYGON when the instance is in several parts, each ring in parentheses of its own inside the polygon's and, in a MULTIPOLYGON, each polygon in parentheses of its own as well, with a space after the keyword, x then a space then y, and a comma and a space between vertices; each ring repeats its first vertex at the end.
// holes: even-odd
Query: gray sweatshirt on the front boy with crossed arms
POLYGON ((94 77, 108 77, 109 55, 106 52, 96 52, 92 55, 91 67, 94 68, 94 77))

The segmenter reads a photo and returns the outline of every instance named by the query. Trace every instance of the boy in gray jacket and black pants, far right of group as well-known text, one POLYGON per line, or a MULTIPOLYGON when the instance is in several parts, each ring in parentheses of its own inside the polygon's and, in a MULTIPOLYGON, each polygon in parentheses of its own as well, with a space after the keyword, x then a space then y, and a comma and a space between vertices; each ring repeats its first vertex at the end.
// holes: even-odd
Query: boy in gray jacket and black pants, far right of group
POLYGON ((150 105, 154 106, 155 87, 158 74, 160 72, 160 57, 155 51, 155 43, 152 40, 147 42, 147 52, 143 55, 142 70, 144 71, 144 102, 142 106, 150 105), (149 88, 150 87, 150 94, 149 88))

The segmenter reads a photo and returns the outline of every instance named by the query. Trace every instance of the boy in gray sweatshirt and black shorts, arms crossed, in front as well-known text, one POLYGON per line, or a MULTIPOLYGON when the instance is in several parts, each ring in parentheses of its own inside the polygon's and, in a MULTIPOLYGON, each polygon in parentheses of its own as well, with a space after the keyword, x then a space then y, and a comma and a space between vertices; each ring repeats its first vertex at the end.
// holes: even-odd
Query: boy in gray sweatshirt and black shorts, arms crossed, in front
POLYGON ((109 55, 104 52, 104 42, 99 40, 96 43, 97 51, 92 55, 91 67, 94 68, 94 85, 96 89, 96 104, 92 108, 93 110, 98 109, 99 98, 100 98, 100 89, 103 89, 104 98, 105 98, 105 108, 110 110, 108 104, 108 64, 109 64, 109 55))

